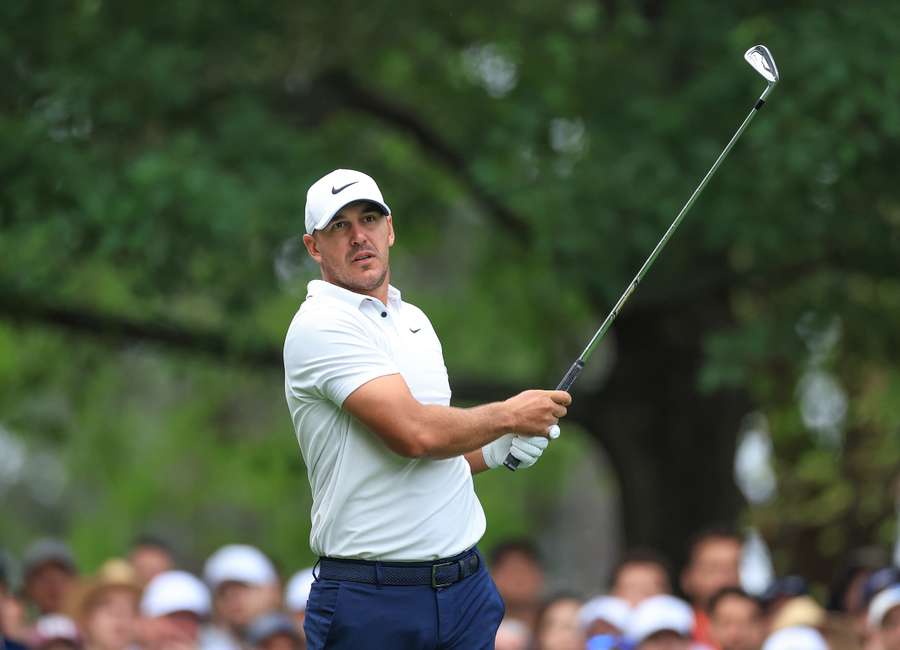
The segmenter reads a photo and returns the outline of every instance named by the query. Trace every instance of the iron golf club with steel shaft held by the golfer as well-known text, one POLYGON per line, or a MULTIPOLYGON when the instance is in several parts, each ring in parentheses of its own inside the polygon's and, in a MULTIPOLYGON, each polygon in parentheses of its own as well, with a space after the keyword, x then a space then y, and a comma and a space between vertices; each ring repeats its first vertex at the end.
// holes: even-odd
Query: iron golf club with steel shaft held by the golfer
MULTIPOLYGON (((687 200, 687 203, 685 203, 684 207, 681 208, 678 216, 675 217, 675 221, 672 222, 672 225, 669 226, 668 230, 666 230, 665 234, 662 236, 662 239, 660 239, 659 243, 656 244, 656 247, 650 253, 650 256, 647 258, 644 264, 641 266, 640 270, 637 272, 637 275, 634 276, 631 284, 629 284, 625 289, 625 293, 622 294, 622 296, 616 302, 615 306, 612 308, 612 311, 609 312, 609 315, 603 321, 603 324, 600 325, 600 329, 598 329, 594 333, 594 336, 587 344, 587 347, 584 348, 584 351, 575 360, 575 362, 566 372, 565 376, 559 382, 556 390, 569 390, 572 384, 575 383, 575 380, 578 378, 581 369, 584 368, 584 364, 591 356, 591 353, 593 353, 594 349, 600 343, 600 340, 609 330, 613 321, 616 319, 616 316, 619 315, 619 310, 622 309, 622 305, 625 304, 625 301, 628 300, 628 298, 637 288, 637 285, 640 284, 641 280, 644 279, 644 275, 650 269, 650 266, 652 266, 653 262, 656 261, 656 258, 659 255, 660 251, 662 251, 663 247, 668 243, 669 238, 672 236, 672 233, 674 233, 675 229, 678 228, 678 225, 681 223, 682 219, 684 219, 684 216, 687 214, 688 210, 690 210, 691 206, 694 205, 694 201, 696 201, 697 197, 700 196, 700 192, 702 192, 703 188, 706 187, 709 179, 712 178, 712 175, 716 173, 719 165, 721 165, 722 161, 725 160, 725 156, 727 156, 728 152, 731 151, 734 143, 737 142, 738 138, 741 137, 744 129, 747 128, 747 125, 750 124, 750 121, 756 116, 756 113, 760 108, 762 108, 763 104, 765 104, 766 97, 769 96, 769 93, 772 92, 775 84, 778 83, 778 68, 775 66, 775 60, 772 58, 772 53, 769 52, 768 48, 765 45, 754 45, 749 50, 744 52, 744 59, 766 80, 768 84, 766 86, 766 89, 763 91, 762 95, 759 96, 759 99, 756 100, 756 104, 754 104, 753 108, 750 109, 750 113, 746 118, 744 118, 744 121, 738 127, 738 130, 735 131, 733 136, 731 136, 731 140, 729 140, 728 144, 725 145, 725 148, 722 150, 722 153, 719 154, 719 157, 716 158, 716 161, 712 164, 712 167, 710 167, 709 171, 706 172, 706 176, 704 176, 703 180, 700 181, 697 189, 694 190, 694 193, 691 194, 690 198, 687 200)), ((550 434, 551 438, 558 437, 559 427, 557 425, 553 425, 548 433, 550 434)), ((510 470, 515 471, 519 466, 519 459, 514 457, 510 453, 506 456, 506 460, 503 461, 503 464, 510 470)))

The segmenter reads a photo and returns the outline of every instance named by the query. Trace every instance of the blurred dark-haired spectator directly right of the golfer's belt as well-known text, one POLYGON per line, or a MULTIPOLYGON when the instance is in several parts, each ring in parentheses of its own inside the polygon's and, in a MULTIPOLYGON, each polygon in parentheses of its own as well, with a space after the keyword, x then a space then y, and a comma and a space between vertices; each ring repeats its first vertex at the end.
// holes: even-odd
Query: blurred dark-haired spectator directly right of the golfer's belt
POLYGON ((506 604, 506 616, 534 628, 544 589, 544 570, 535 545, 511 540, 494 548, 491 577, 506 604))

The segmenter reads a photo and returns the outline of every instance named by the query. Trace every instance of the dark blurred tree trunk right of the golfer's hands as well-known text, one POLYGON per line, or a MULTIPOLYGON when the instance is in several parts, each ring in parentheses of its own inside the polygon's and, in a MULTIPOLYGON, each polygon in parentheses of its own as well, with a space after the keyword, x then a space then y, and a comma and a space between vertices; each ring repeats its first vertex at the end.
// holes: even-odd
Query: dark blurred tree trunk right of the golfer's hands
POLYGON ((627 547, 654 548, 676 569, 692 535, 734 524, 743 505, 734 452, 749 401, 698 390, 701 341, 727 318, 724 292, 702 303, 626 312, 609 380, 580 395, 572 413, 618 474, 627 547))

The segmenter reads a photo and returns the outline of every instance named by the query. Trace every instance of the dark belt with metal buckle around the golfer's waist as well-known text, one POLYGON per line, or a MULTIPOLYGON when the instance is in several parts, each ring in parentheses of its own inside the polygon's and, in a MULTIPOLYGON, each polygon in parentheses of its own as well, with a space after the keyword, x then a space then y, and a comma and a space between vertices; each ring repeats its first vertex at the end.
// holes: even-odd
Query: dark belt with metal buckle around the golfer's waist
POLYGON ((319 558, 317 580, 349 580, 372 585, 449 587, 467 578, 481 566, 475 547, 454 557, 434 562, 372 562, 319 558))

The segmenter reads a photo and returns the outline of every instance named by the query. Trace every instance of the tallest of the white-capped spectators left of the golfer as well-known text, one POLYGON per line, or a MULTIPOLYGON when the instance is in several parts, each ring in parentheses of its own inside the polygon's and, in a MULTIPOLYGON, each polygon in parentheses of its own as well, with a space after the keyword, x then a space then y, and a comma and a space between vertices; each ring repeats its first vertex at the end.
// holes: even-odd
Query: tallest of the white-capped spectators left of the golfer
POLYGON ((223 546, 206 561, 203 577, 213 594, 213 624, 203 631, 205 650, 240 650, 254 618, 280 605, 275 567, 253 546, 223 546))

